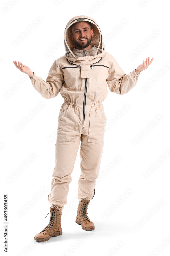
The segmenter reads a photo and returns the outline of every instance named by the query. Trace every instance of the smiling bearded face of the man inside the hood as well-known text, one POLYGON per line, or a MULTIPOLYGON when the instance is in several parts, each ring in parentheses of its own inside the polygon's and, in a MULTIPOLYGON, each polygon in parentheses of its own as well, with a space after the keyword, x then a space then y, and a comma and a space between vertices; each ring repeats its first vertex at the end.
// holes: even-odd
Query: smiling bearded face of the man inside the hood
POLYGON ((93 35, 93 29, 90 28, 90 24, 86 21, 76 22, 72 25, 71 38, 78 50, 91 49, 90 43, 93 35))

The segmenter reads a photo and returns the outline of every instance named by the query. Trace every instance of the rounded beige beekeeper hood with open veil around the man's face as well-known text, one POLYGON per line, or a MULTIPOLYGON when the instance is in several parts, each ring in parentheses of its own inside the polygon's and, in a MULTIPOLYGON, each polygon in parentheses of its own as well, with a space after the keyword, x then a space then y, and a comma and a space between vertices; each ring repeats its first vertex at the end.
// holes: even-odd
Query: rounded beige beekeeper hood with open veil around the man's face
POLYGON ((102 33, 100 30, 99 25, 97 22, 95 22, 94 19, 81 15, 81 16, 76 16, 73 17, 72 19, 69 20, 69 22, 66 25, 65 31, 64 31, 64 45, 66 49, 66 58, 71 61, 71 62, 89 62, 93 59, 96 61, 96 58, 101 59, 102 56, 104 56, 105 49, 104 49, 104 44, 103 44, 103 37, 102 33), (72 52, 73 48, 76 46, 74 41, 71 38, 71 29, 69 28, 71 25, 73 25, 76 22, 79 21, 88 21, 91 22, 91 28, 93 29, 94 36, 92 37, 91 40, 91 45, 95 45, 97 50, 95 52, 94 56, 82 56, 82 57, 76 57, 74 53, 72 52))

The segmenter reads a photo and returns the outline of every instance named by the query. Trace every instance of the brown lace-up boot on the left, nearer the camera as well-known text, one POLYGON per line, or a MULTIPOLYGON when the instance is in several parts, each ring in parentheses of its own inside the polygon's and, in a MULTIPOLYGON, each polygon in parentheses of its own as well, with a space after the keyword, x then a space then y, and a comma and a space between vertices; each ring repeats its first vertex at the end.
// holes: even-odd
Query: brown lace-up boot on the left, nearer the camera
POLYGON ((62 211, 58 211, 56 207, 50 207, 50 222, 39 234, 35 235, 34 239, 37 242, 45 242, 48 241, 51 237, 62 235, 61 212, 62 211))

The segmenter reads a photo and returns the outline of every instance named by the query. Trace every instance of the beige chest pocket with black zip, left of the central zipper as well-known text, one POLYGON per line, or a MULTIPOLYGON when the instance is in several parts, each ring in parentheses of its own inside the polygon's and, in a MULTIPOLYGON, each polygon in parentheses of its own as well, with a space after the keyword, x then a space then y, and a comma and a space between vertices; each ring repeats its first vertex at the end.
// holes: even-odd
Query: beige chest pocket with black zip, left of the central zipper
POLYGON ((80 66, 63 67, 64 81, 67 87, 81 86, 80 66))

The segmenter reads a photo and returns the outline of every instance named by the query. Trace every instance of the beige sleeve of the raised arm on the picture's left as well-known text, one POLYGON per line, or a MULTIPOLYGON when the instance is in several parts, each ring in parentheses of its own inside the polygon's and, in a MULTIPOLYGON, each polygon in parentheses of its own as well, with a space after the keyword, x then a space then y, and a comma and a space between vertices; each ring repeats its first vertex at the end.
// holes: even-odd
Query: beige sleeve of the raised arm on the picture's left
POLYGON ((46 81, 44 81, 41 77, 36 76, 35 73, 29 78, 31 79, 35 90, 46 99, 56 97, 64 83, 63 71, 56 65, 56 60, 53 62, 53 65, 49 70, 46 81))

